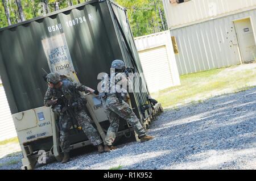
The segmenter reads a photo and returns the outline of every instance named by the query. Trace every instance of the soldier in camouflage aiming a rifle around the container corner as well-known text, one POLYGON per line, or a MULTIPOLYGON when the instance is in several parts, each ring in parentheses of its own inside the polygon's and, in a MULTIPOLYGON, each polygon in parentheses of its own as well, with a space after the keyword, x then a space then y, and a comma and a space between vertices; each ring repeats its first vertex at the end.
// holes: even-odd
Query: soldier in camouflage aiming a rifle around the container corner
MULTIPOLYGON (((118 82, 127 80, 126 78, 121 78, 122 76, 118 76, 119 73, 123 73, 123 71, 125 70, 125 63, 122 60, 115 60, 112 62, 112 69, 115 69, 115 74, 112 74, 115 76, 110 77, 108 81, 109 90, 108 92, 103 92, 100 94, 105 108, 105 112, 110 121, 110 127, 106 134, 106 139, 104 143, 104 151, 110 151, 114 149, 114 146, 112 146, 112 144, 115 140, 115 135, 118 132, 119 117, 125 119, 133 127, 134 131, 138 134, 139 139, 141 139, 141 142, 152 140, 154 138, 152 136, 146 135, 145 129, 142 127, 141 122, 139 121, 133 110, 131 110, 129 104, 127 104, 123 100, 120 100, 120 98, 117 97, 117 92, 121 93, 122 95, 127 94, 127 91, 125 89, 122 89, 121 87, 121 89, 117 90, 116 86, 118 82)), ((104 85, 102 85, 102 89, 105 89, 104 85)))

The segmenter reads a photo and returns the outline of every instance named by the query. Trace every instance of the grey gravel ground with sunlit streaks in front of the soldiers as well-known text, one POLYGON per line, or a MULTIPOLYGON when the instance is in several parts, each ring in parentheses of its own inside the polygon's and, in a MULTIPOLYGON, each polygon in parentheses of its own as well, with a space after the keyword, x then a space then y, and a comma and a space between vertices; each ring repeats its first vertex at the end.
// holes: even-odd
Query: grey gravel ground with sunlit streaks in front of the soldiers
MULTIPOLYGON (((154 140, 38 169, 256 169, 256 88, 166 110, 154 140)), ((1 163, 1 162, 0 162, 1 163)))

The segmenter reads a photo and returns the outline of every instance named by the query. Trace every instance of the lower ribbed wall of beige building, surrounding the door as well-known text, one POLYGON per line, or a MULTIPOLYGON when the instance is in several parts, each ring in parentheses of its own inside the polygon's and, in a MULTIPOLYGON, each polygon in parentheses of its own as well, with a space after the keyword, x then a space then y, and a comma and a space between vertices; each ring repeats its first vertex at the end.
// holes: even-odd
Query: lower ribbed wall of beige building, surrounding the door
POLYGON ((171 30, 179 53, 176 54, 180 74, 241 64, 234 20, 248 18, 256 37, 256 10, 241 12, 207 22, 171 30))

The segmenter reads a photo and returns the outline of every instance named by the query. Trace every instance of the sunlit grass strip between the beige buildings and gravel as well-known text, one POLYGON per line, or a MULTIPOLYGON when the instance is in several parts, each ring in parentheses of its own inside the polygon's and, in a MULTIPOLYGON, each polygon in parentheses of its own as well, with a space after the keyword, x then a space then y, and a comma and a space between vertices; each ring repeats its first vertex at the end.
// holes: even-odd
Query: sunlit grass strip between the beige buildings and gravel
POLYGON ((152 96, 164 108, 174 107, 177 110, 177 106, 201 103, 212 96, 245 91, 256 86, 256 68, 240 69, 240 66, 181 75, 181 86, 155 92, 152 96))

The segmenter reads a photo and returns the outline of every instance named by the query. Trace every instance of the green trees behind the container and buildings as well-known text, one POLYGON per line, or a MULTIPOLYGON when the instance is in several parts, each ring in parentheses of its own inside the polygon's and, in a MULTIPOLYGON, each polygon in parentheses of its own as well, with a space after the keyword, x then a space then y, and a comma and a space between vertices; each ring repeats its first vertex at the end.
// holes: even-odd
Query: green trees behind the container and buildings
MULTIPOLYGON (((89 0, 1 0, 0 28, 89 0)), ((126 7, 134 36, 167 30, 162 0, 114 0, 126 7)))

